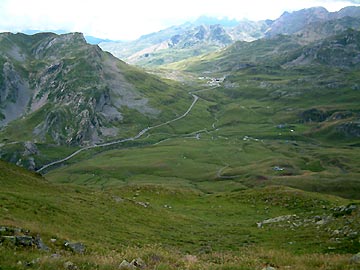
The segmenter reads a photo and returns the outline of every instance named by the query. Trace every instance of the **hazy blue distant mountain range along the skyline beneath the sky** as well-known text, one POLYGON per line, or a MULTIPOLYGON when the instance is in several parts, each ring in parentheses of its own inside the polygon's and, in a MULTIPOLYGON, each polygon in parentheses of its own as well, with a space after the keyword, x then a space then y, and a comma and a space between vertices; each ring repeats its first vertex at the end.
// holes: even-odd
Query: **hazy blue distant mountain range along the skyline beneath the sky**
POLYGON ((334 31, 358 29, 359 18, 359 7, 346 7, 338 12, 315 7, 285 12, 274 21, 236 22, 200 17, 193 23, 170 27, 135 41, 101 42, 99 45, 126 62, 159 66, 216 51, 235 41, 253 41, 279 34, 302 35, 303 42, 309 43, 330 36, 334 31), (310 33, 307 27, 316 33, 310 33))

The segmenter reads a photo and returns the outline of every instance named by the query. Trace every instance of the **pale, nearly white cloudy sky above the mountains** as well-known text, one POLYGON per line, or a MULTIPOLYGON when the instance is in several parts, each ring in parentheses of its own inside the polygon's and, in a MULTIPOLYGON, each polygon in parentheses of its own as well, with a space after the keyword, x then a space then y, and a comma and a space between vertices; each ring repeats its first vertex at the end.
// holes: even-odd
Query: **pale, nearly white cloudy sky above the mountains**
POLYGON ((360 0, 0 0, 0 32, 65 30, 133 40, 203 15, 264 20, 284 11, 350 5, 360 0))

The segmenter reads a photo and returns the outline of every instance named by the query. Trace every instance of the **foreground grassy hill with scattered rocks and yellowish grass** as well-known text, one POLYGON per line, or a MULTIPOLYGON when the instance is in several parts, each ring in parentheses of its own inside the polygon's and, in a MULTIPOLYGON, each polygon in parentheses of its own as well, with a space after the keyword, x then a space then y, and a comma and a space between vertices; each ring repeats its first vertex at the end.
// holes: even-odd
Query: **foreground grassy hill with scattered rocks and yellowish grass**
POLYGON ((72 269, 69 261, 117 269, 138 257, 147 269, 356 267, 357 201, 280 186, 212 195, 160 185, 99 190, 0 166, 2 269, 72 269))

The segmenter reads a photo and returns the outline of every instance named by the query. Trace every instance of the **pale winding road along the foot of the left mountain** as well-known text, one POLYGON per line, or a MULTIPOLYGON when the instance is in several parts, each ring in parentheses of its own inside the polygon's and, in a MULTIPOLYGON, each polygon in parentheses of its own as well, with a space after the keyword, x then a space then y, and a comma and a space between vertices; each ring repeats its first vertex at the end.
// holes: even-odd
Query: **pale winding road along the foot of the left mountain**
POLYGON ((172 120, 169 120, 165 123, 162 123, 162 124, 159 124, 159 125, 156 125, 156 126, 152 126, 152 127, 147 127, 147 128, 144 128, 143 130, 141 130, 137 135, 135 135, 134 137, 130 137, 130 138, 126 138, 126 139, 122 139, 122 140, 118 140, 118 141, 113 141, 113 142, 108 142, 108 143, 103 143, 103 144, 95 144, 95 145, 91 145, 91 146, 86 146, 86 147, 83 147, 77 151, 75 151, 74 153, 72 153, 71 155, 63 158, 63 159, 60 159, 60 160, 56 160, 56 161, 53 161, 49 164, 46 164, 44 165, 43 167, 41 167, 40 169, 38 169, 36 172, 37 173, 40 173, 41 171, 45 170, 46 168, 49 168, 53 165, 56 165, 56 164, 59 164, 59 163, 63 163, 71 158, 73 158, 74 156, 78 155, 79 153, 83 152, 83 151, 86 151, 86 150, 89 150, 89 149, 94 149, 94 148, 100 148, 100 147, 106 147, 106 146, 110 146, 110 145, 114 145, 114 144, 119 144, 119 143, 124 143, 124 142, 128 142, 128 141, 134 141, 134 140, 137 140, 139 139, 142 135, 144 135, 146 132, 148 132, 149 130, 152 130, 152 129, 155 129, 155 128, 159 128, 159 127, 162 127, 162 126, 165 126, 165 125, 168 125, 168 124, 171 124, 175 121, 178 121, 178 120, 181 120, 182 118, 186 117, 190 112, 191 110, 193 109, 193 107, 195 106, 196 102, 198 101, 199 97, 197 95, 194 95, 192 94, 194 100, 193 102, 191 103, 190 107, 187 109, 187 111, 177 117, 177 118, 174 118, 172 120))

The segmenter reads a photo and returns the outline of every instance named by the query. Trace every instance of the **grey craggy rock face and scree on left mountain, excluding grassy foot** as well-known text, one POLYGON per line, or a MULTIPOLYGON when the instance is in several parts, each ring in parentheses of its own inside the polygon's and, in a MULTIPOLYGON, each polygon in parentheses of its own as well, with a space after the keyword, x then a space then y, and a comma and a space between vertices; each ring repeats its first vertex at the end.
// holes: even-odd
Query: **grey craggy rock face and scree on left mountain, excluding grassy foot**
POLYGON ((80 33, 2 34, 0 46, 0 125, 41 114, 31 130, 37 141, 95 143, 109 128, 116 135, 124 107, 150 117, 160 112, 123 76, 124 63, 80 33))

